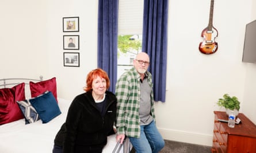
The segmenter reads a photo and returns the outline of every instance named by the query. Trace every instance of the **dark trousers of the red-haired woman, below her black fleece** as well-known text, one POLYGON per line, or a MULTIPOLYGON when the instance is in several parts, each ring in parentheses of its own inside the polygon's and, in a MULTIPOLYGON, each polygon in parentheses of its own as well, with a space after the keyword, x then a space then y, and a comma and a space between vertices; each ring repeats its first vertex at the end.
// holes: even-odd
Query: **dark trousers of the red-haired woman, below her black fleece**
MULTIPOLYGON (((101 153, 103 147, 102 146, 88 146, 88 147, 83 147, 82 150, 75 151, 75 152, 76 153, 101 153)), ((54 149, 52 150, 52 153, 62 153, 62 147, 54 145, 54 149)))

